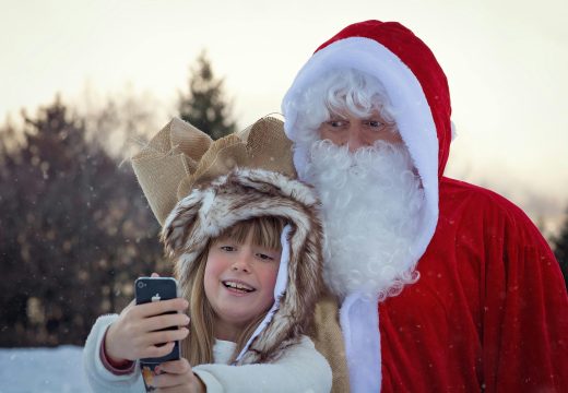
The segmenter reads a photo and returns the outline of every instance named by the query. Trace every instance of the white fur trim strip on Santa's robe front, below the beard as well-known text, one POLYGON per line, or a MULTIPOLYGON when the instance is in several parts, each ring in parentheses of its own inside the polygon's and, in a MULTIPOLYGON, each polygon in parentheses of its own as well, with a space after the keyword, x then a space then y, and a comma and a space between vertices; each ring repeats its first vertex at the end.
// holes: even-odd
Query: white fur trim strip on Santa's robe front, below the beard
POLYGON ((376 298, 348 295, 340 310, 345 355, 353 393, 380 392, 381 355, 379 309, 376 298))

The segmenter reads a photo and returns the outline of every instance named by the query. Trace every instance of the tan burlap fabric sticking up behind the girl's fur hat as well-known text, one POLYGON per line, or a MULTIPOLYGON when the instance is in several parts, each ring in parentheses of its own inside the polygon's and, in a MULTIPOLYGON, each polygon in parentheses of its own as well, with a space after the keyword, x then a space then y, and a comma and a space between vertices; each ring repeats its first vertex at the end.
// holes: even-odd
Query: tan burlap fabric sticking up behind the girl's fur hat
POLYGON ((283 122, 274 117, 264 117, 217 141, 174 118, 132 157, 132 167, 161 225, 192 187, 236 167, 296 178, 292 142, 284 134, 283 122))

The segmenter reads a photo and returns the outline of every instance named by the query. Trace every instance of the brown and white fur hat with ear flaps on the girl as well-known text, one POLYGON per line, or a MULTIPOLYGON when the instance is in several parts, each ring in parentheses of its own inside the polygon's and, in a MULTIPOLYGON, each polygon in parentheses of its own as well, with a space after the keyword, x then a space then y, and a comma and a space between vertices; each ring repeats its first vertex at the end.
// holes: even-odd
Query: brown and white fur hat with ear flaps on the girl
MULTIPOLYGON (((263 169, 235 169, 182 199, 163 230, 166 250, 176 255, 176 276, 187 295, 191 264, 208 240, 237 222, 279 216, 292 224, 287 285, 271 320, 246 349, 239 364, 271 359, 294 344, 312 315, 321 276, 321 225, 312 190, 263 169)), ((283 252, 284 260, 284 252, 283 252)), ((281 264, 283 261, 281 261, 281 264)), ((280 273, 279 273, 280 275, 280 273)), ((280 277, 279 277, 280 279, 280 277)))

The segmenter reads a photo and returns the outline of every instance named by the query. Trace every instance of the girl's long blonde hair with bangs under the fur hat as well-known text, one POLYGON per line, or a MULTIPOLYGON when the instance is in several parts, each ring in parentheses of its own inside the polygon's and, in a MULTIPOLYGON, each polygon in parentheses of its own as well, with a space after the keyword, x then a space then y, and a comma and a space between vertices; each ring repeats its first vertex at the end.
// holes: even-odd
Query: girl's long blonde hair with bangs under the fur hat
MULTIPOLYGON (((189 271, 190 279, 188 282, 188 287, 190 288, 190 291, 187 300, 189 301, 189 315, 191 322, 189 336, 181 342, 181 350, 191 366, 211 364, 214 360, 214 312, 205 296, 205 288, 203 285, 205 264, 211 245, 220 239, 230 239, 237 243, 244 243, 248 234, 252 230, 252 243, 255 246, 281 250, 282 245, 280 238, 285 224, 286 222, 283 218, 274 216, 250 218, 238 222, 232 227, 225 229, 218 237, 208 241, 203 252, 201 252, 189 271)), ((265 313, 259 314, 242 330, 237 340, 237 346, 230 361, 235 360, 238 356, 249 337, 264 318, 264 314, 265 313)))

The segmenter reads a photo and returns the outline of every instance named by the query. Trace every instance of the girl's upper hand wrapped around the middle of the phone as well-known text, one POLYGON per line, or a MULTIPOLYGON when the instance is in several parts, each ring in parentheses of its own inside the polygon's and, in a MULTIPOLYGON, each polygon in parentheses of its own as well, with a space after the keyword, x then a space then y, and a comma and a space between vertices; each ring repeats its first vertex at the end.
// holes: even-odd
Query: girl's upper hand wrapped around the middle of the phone
POLYGON ((159 330, 189 324, 189 317, 184 313, 187 308, 188 301, 181 298, 138 306, 132 301, 107 330, 104 345, 108 359, 121 364, 169 354, 174 342, 186 338, 189 330, 159 330), (180 312, 162 315, 167 311, 180 312), (163 343, 166 344, 156 346, 163 343))

